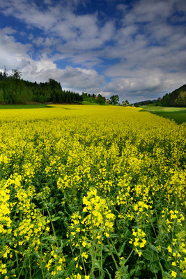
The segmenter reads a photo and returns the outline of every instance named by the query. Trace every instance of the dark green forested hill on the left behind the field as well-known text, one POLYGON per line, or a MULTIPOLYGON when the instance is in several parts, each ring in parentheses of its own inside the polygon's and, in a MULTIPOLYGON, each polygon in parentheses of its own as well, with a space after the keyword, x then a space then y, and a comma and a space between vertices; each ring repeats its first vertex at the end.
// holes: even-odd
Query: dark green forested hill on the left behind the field
POLYGON ((78 103, 82 101, 79 93, 64 91, 56 80, 47 82, 28 82, 22 80, 19 70, 13 70, 12 75, 0 72, 0 103, 78 103))

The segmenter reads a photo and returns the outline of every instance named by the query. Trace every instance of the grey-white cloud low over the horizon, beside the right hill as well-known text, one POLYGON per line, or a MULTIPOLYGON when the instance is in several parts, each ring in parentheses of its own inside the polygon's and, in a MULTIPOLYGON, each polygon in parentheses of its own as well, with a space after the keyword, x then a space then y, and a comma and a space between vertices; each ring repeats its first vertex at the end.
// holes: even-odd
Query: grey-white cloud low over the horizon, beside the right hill
POLYGON ((116 93, 130 102, 158 98, 164 92, 169 93, 185 84, 185 74, 166 73, 152 70, 146 73, 133 73, 130 77, 116 77, 111 80, 104 91, 116 93))

